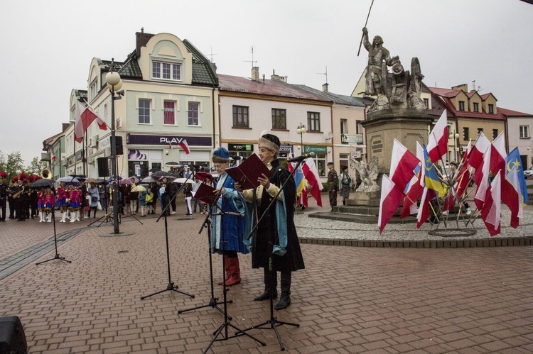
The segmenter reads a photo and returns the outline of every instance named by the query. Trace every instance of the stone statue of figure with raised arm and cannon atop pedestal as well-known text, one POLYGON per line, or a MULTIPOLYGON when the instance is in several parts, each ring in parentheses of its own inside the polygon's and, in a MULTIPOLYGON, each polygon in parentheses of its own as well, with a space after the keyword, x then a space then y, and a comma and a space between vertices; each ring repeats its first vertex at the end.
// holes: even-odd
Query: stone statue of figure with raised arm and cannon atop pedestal
POLYGON ((383 47, 383 39, 379 35, 370 43, 366 27, 362 28, 362 33, 363 44, 368 51, 365 94, 377 96, 369 113, 389 108, 425 109, 420 98, 424 75, 421 74, 418 58, 412 58, 411 72, 405 71, 399 57, 391 57, 389 50, 383 47), (392 68, 392 73, 389 73, 388 67, 392 68))

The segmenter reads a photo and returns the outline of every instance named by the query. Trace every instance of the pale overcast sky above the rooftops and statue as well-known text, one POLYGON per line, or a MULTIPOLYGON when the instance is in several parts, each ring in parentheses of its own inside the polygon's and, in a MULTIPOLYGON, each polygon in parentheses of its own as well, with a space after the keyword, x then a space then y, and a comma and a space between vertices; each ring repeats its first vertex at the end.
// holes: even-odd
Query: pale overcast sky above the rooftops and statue
MULTIPOLYGON (((41 157, 43 140, 68 122, 72 89, 87 89, 93 57, 123 61, 135 33, 173 33, 220 74, 260 74, 351 94, 365 69, 357 48, 371 0, 9 1, 0 13, 0 150, 41 157)), ((424 82, 473 80, 497 105, 533 114, 533 6, 519 0, 375 0, 367 28, 424 82)))

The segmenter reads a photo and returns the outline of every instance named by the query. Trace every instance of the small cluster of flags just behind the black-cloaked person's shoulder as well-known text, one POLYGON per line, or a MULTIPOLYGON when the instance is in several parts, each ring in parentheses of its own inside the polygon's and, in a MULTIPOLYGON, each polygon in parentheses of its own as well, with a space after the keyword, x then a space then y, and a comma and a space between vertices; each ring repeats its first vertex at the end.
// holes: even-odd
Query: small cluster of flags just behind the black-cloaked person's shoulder
MULTIPOLYGON (((292 155, 292 153, 291 153, 292 155)), ((289 156, 291 158, 293 156, 289 156)), ((296 162, 289 162, 287 170, 293 172, 296 167, 296 162)), ((316 204, 322 206, 321 190, 323 189, 322 182, 318 176, 315 160, 309 157, 301 165, 298 165, 294 172, 294 183, 296 184, 296 198, 299 205, 308 207, 308 194, 311 188, 311 195, 316 199, 316 204)))

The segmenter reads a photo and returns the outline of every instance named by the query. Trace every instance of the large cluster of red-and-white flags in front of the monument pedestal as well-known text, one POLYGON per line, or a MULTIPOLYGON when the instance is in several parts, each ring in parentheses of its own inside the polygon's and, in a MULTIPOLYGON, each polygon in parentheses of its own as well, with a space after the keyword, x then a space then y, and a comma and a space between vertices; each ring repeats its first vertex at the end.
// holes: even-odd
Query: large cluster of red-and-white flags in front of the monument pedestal
MULTIPOLYGON (((427 147, 417 143, 416 155, 394 140, 389 176, 383 175, 382 194, 379 204, 378 227, 384 227, 403 204, 400 218, 416 214, 416 227, 437 216, 438 210, 450 211, 456 203, 467 196, 467 187, 473 178, 476 189, 474 203, 488 228, 490 236, 501 231, 500 211, 503 201, 511 211, 510 225, 519 226, 522 206, 527 204, 527 187, 518 148, 507 154, 503 133, 492 143, 480 132, 473 145, 463 154, 453 175, 438 170, 444 165, 448 151, 448 122, 443 111, 429 134, 427 147), (492 182, 490 175, 493 176, 492 182), (431 204, 432 200, 443 198, 443 204, 431 204)), ((461 205, 461 204, 460 204, 461 205)))

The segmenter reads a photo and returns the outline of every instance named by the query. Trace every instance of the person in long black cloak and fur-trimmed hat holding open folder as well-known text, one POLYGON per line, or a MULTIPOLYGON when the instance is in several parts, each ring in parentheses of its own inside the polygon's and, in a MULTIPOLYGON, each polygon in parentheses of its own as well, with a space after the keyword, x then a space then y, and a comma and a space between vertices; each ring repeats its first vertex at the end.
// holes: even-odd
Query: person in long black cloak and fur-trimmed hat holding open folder
MULTIPOLYGON (((264 268, 264 292, 254 301, 269 299, 270 285, 273 287, 274 298, 277 298, 277 272, 281 272, 281 297, 275 306, 276 310, 285 309, 291 304, 292 272, 305 267, 294 226, 296 185, 291 173, 279 163, 277 155, 280 145, 276 135, 262 135, 259 139, 259 158, 271 170, 272 175, 270 178, 265 175, 260 177, 258 182, 261 185, 257 189, 242 191, 242 196, 249 203, 251 210, 247 213, 251 227, 254 226, 256 218, 260 218, 266 212, 251 242, 252 267, 264 268), (286 181, 288 182, 285 184, 286 181), (284 184, 276 202, 269 208, 272 198, 276 197, 284 184), (274 270, 272 284, 269 284, 270 255, 272 255, 272 270, 274 270)), ((235 187, 240 189, 239 184, 235 184, 235 187)))

